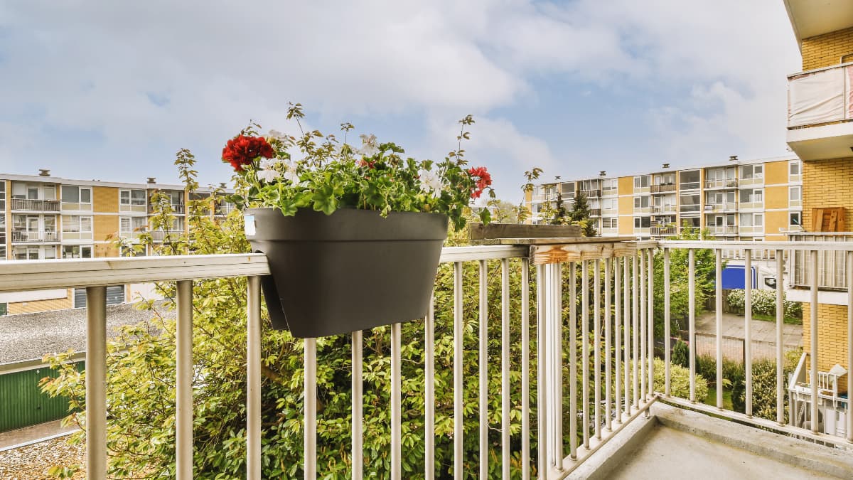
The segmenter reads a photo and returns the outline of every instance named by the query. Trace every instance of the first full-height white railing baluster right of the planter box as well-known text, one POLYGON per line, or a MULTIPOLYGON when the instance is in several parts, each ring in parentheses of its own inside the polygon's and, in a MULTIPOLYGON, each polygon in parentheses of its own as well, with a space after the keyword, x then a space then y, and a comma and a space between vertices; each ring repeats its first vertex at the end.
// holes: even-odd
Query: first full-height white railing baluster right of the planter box
POLYGON ((453 264, 453 476, 461 478, 463 473, 464 435, 462 403, 462 262, 453 264))

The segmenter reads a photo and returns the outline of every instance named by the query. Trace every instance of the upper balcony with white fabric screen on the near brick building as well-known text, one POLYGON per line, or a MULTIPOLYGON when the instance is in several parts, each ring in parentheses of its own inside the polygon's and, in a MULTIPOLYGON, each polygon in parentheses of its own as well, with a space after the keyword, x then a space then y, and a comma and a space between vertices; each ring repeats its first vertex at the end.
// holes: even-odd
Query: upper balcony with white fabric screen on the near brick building
MULTIPOLYGON (((848 53, 839 52, 838 55, 848 53)), ((853 62, 788 75, 788 146, 804 160, 850 156, 853 62)))

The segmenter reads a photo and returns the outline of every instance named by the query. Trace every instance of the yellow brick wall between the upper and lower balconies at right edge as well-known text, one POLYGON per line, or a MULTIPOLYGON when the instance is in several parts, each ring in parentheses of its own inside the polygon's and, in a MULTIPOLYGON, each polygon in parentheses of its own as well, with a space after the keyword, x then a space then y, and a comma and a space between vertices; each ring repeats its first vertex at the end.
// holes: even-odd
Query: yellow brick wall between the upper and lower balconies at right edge
POLYGON ((803 226, 811 230, 811 209, 844 207, 846 230, 853 228, 853 158, 803 162, 803 226))

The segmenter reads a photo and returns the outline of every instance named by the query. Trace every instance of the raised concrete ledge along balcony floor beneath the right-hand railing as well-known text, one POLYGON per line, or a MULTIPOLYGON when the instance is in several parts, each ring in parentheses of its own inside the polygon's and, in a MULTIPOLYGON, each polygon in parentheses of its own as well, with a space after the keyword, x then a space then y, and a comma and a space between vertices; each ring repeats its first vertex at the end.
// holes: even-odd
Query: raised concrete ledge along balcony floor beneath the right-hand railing
POLYGON ((715 419, 704 413, 691 412, 662 403, 653 405, 652 415, 665 427, 682 430, 700 438, 740 448, 788 465, 833 477, 853 476, 853 456, 844 450, 822 447, 811 442, 724 419, 715 419))

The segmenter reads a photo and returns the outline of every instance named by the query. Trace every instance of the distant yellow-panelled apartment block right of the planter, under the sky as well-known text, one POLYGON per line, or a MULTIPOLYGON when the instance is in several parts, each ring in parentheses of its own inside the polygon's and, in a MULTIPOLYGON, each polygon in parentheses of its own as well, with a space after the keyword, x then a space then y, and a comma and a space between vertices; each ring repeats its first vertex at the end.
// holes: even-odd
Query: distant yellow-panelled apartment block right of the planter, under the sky
POLYGON ((586 196, 603 237, 664 238, 684 225, 721 240, 784 240, 803 220, 802 163, 796 156, 538 184, 528 192, 531 223, 547 222, 558 196, 568 210, 586 196))

